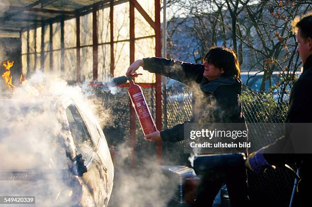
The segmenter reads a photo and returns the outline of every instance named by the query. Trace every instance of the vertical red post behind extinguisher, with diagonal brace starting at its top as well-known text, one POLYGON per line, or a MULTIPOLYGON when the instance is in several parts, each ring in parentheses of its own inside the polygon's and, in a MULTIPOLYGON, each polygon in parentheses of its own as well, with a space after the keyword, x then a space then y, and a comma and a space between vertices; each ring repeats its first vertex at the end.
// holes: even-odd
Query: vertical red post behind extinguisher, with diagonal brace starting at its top
MULTIPOLYGON (((135 15, 134 6, 130 4, 130 64, 135 61, 135 15)), ((132 147, 132 167, 136 166, 136 112, 130 101, 130 142, 132 147)))

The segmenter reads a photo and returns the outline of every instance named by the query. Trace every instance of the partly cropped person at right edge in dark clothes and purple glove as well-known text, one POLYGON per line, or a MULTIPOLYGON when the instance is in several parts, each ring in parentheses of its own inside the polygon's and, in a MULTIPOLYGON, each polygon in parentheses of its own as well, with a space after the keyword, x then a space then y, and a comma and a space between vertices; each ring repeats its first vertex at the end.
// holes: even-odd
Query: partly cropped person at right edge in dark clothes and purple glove
MULTIPOLYGON (((285 122, 312 123, 312 13, 302 18, 296 24, 296 29, 297 51, 303 63, 303 72, 291 90, 290 106, 285 122)), ((293 206, 305 206, 310 203, 309 192, 312 185, 312 137, 308 133, 303 133, 300 137, 292 136, 294 131, 298 132, 298 130, 300 130, 298 127, 285 128, 285 135, 273 144, 252 152, 247 158, 246 166, 252 171, 261 173, 270 166, 296 162, 301 180, 293 206), (300 147, 296 148, 298 145, 300 147), (303 148, 310 150, 306 153, 303 148), (305 153, 302 153, 303 151, 305 153)))

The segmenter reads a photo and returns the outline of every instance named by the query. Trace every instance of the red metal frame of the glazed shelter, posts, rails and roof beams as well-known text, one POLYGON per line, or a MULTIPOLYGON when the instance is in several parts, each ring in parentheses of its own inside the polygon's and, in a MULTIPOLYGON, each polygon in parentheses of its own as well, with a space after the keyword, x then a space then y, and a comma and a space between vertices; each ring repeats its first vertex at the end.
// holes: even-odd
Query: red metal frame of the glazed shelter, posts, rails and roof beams
MULTIPOLYGON (((30 29, 35 29, 35 35, 34 35, 34 41, 36 41, 36 29, 41 27, 41 57, 40 60, 37 60, 37 55, 36 55, 36 46, 34 50, 35 54, 35 65, 36 61, 40 61, 41 65, 44 63, 44 56, 42 55, 44 52, 44 45, 43 45, 43 34, 44 34, 44 28, 49 27, 49 65, 50 68, 53 68, 53 51, 60 50, 61 53, 61 71, 64 70, 64 58, 65 58, 65 44, 64 44, 64 21, 68 19, 75 18, 76 25, 80 25, 80 16, 92 13, 93 16, 93 21, 92 21, 92 34, 93 34, 93 43, 92 45, 81 45, 80 41, 80 27, 76 27, 76 81, 82 81, 81 80, 81 55, 80 51, 81 48, 87 47, 87 46, 92 46, 93 48, 93 80, 97 80, 97 74, 98 74, 98 46, 102 44, 110 44, 111 46, 111 66, 110 66, 110 72, 112 75, 114 75, 114 43, 121 42, 121 41, 129 41, 130 43, 130 58, 129 58, 129 63, 133 63, 135 61, 135 40, 142 39, 142 38, 148 38, 148 37, 140 37, 136 38, 135 37, 135 9, 144 17, 144 19, 150 24, 151 28, 153 28, 155 35, 152 35, 150 37, 155 37, 155 57, 161 57, 161 23, 160 23, 160 0, 154 0, 154 8, 155 8, 155 21, 152 20, 152 18, 147 14, 147 12, 142 8, 142 6, 138 3, 137 0, 103 0, 99 1, 95 4, 85 6, 83 8, 77 9, 75 11, 61 11, 61 10, 53 10, 53 9, 44 9, 42 7, 47 6, 48 4, 53 4, 54 2, 57 2, 58 0, 50 1, 46 3, 45 5, 43 1, 39 0, 34 2, 33 4, 30 4, 26 7, 19 7, 19 6, 11 6, 10 10, 13 12, 10 14, 5 14, 3 17, 0 18, 0 21, 17 21, 18 19, 14 18, 19 13, 23 13, 25 11, 27 12, 36 12, 36 13, 41 13, 41 14, 57 14, 57 16, 53 18, 49 18, 47 20, 30 20, 30 19, 19 19, 19 21, 25 21, 25 22, 32 22, 32 25, 29 25, 27 28, 21 28, 20 32, 20 37, 22 31, 27 30, 28 34, 30 29), (129 2, 129 13, 130 13, 130 18, 129 18, 129 34, 130 38, 128 40, 121 40, 121 41, 114 41, 114 31, 113 31, 113 22, 114 22, 114 16, 113 16, 113 11, 114 11, 114 6, 122 3, 129 2), (34 8, 35 6, 38 6, 41 4, 41 8, 34 8), (97 37, 97 11, 99 9, 103 8, 108 8, 110 7, 110 42, 109 43, 98 43, 98 37, 97 37), (16 12, 15 12, 16 11, 16 12), (53 49, 53 39, 52 39, 52 25, 55 22, 60 22, 61 24, 61 48, 60 49, 53 49)), ((7 30, 14 30, 18 31, 17 29, 11 28, 7 30)), ((27 61, 29 63, 30 61, 30 39, 29 35, 27 35, 27 61)), ((35 44, 36 45, 36 44, 35 44)), ((70 49, 70 48, 67 48, 70 49)), ((28 65, 28 72, 30 71, 29 65, 28 65)), ((155 115, 156 115, 156 125, 159 131, 162 130, 162 89, 161 89, 161 84, 162 84, 162 77, 161 75, 156 75, 156 81, 154 84, 139 84, 143 87, 154 87, 155 88, 155 115)), ((130 120, 131 120, 131 145, 133 149, 136 147, 136 115, 135 111, 131 106, 131 115, 130 115, 130 120)), ((162 143, 157 143, 156 144, 157 148, 157 157, 158 157, 158 163, 161 163, 161 157, 162 157, 162 143)), ((135 165, 135 152, 133 152, 133 158, 132 158, 132 163, 135 165)))

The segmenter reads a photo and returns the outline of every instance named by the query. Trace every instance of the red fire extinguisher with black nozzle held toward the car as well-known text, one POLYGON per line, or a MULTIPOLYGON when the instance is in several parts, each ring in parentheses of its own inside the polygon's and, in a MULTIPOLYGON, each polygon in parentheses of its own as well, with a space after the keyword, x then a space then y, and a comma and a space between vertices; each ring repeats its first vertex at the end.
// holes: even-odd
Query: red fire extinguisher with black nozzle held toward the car
POLYGON ((120 76, 113 79, 115 85, 126 83, 128 80, 130 87, 128 88, 128 94, 132 101, 132 106, 135 108, 137 117, 140 121, 144 135, 153 133, 157 131, 153 118, 150 114, 149 108, 146 104, 146 100, 142 89, 139 85, 135 84, 132 77, 136 77, 139 74, 134 74, 132 76, 120 76))

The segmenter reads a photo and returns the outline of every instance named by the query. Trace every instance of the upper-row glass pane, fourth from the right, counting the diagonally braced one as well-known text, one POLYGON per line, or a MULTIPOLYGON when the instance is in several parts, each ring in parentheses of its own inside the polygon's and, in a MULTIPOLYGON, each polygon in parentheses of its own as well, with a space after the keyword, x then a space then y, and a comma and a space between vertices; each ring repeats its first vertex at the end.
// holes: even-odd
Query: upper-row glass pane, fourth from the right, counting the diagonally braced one
POLYGON ((80 17, 80 44, 91 45, 92 40, 92 13, 80 17))

